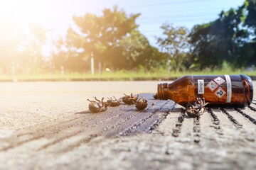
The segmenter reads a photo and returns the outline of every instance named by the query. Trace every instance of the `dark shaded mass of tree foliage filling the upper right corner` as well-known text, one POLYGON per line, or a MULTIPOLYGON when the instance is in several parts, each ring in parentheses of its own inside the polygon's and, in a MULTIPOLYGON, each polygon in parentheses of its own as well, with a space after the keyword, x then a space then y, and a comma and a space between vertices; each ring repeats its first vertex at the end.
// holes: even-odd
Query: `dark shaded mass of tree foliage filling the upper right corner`
POLYGON ((238 9, 220 13, 213 22, 194 26, 191 30, 193 64, 199 69, 221 68, 227 61, 235 67, 256 63, 255 0, 247 0, 238 9), (207 59, 207 60, 206 60, 207 59))

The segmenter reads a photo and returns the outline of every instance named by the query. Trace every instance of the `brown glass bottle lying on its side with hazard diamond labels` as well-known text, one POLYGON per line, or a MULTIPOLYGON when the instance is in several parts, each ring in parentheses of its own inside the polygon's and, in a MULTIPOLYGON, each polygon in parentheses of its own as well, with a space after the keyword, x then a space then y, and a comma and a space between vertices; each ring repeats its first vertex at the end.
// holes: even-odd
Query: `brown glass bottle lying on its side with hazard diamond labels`
POLYGON ((252 79, 242 74, 185 76, 171 84, 158 84, 157 98, 171 99, 185 107, 196 98, 205 98, 210 106, 245 107, 252 102, 252 79))

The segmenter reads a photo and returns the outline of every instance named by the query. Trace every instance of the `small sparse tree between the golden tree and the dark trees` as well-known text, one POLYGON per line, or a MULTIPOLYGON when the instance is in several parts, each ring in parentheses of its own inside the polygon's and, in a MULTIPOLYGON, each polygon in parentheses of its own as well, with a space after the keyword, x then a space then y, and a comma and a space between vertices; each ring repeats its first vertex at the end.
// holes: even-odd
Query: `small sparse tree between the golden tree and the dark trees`
POLYGON ((184 27, 175 28, 168 23, 164 23, 161 29, 164 30, 164 37, 157 38, 157 43, 169 54, 167 63, 170 62, 171 67, 177 72, 188 60, 188 30, 184 27))

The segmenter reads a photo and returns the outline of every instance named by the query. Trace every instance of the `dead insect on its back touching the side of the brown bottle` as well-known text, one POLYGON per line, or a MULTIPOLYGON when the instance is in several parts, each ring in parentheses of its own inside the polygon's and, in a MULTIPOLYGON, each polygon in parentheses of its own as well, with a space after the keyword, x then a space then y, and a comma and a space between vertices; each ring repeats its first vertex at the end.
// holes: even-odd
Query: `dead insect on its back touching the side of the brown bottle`
POLYGON ((196 102, 193 104, 188 103, 186 108, 186 113, 191 118, 199 118, 206 111, 206 105, 208 103, 205 102, 204 98, 196 98, 196 102))

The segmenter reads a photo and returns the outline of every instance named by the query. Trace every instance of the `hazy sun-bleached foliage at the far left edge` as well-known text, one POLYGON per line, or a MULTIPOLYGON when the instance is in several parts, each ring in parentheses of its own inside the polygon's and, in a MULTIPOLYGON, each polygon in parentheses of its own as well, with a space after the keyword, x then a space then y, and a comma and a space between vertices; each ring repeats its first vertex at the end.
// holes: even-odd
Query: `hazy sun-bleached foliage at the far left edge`
POLYGON ((31 23, 28 32, 16 23, 1 21, 0 74, 29 72, 41 67, 41 47, 46 37, 43 28, 31 23))

